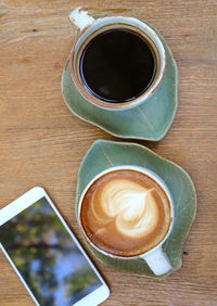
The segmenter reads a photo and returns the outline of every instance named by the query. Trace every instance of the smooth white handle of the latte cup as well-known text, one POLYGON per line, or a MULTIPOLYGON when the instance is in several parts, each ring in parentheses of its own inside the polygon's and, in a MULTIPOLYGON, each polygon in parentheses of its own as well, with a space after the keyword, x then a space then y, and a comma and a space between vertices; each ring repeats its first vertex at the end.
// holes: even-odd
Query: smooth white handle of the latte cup
POLYGON ((155 273, 155 276, 162 276, 168 272, 173 267, 162 247, 157 248, 153 253, 144 254, 140 256, 149 265, 150 269, 155 273))

